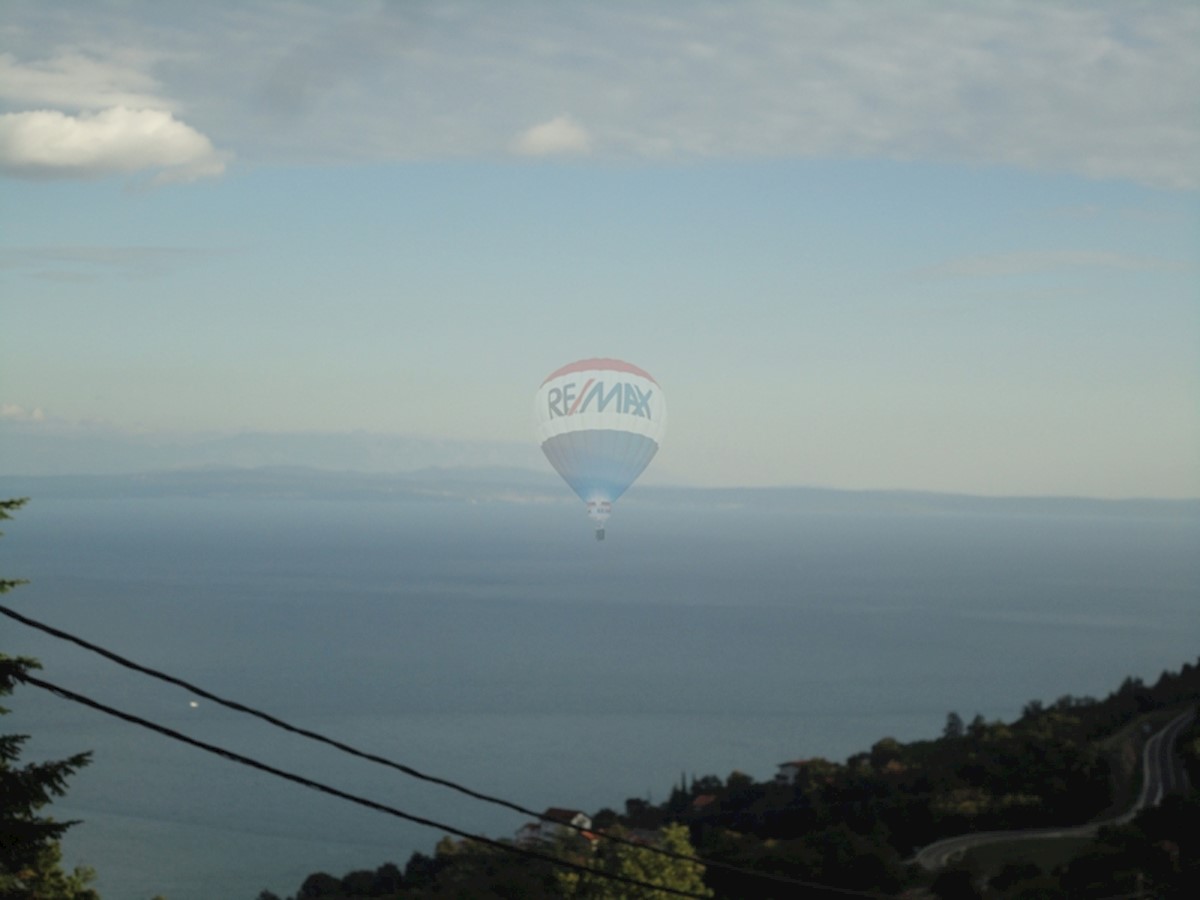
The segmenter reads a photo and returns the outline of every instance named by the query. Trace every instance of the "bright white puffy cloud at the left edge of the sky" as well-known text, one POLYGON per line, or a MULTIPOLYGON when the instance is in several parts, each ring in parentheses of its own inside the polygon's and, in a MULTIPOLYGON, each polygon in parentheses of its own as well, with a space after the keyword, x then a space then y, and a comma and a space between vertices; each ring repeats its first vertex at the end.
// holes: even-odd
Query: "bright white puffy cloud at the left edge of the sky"
POLYGON ((10 175, 98 178, 155 170, 157 182, 192 181, 220 175, 226 161, 204 134, 162 109, 0 115, 0 170, 10 175))

